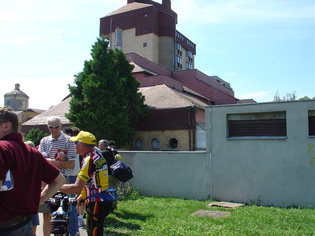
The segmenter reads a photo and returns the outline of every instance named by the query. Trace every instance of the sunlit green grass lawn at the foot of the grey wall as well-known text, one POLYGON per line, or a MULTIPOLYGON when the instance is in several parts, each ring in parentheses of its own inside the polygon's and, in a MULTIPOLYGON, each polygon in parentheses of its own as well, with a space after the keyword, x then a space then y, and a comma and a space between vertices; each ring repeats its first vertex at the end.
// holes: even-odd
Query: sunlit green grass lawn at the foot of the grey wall
POLYGON ((213 202, 144 197, 130 190, 105 218, 106 236, 315 236, 311 207, 207 207, 213 202), (229 211, 220 219, 191 216, 200 210, 229 211))

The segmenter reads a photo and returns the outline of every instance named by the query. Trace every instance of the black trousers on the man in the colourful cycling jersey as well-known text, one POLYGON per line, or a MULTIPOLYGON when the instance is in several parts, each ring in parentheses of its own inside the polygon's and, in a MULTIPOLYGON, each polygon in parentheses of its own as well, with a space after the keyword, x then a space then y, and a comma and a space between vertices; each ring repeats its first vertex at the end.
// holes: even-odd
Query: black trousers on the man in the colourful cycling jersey
POLYGON ((112 203, 90 202, 86 204, 88 236, 103 236, 104 219, 112 211, 112 203))

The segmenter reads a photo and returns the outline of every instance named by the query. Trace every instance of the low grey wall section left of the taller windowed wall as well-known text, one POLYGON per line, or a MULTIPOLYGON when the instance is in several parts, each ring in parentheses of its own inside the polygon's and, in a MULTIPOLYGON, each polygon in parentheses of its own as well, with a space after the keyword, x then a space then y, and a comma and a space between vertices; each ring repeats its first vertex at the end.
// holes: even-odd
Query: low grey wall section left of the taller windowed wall
POLYGON ((119 153, 134 174, 129 183, 143 195, 199 200, 210 196, 210 158, 205 152, 119 153))

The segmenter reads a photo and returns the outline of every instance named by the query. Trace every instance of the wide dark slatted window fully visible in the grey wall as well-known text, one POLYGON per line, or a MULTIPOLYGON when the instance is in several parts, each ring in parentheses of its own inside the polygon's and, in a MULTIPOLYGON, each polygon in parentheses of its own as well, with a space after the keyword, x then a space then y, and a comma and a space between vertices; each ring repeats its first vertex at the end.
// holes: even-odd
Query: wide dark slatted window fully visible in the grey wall
POLYGON ((285 112, 228 114, 228 138, 286 137, 285 112))

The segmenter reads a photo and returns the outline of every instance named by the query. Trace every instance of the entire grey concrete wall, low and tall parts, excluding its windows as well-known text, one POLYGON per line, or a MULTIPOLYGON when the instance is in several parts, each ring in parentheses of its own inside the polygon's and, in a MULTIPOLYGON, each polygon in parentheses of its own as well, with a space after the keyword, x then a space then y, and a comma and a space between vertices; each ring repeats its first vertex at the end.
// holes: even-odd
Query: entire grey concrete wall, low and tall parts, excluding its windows
POLYGON ((206 107, 206 152, 120 151, 146 196, 315 207, 315 100, 206 107), (227 115, 285 112, 287 136, 227 138, 227 115), (311 113, 312 114, 312 113, 311 113))

